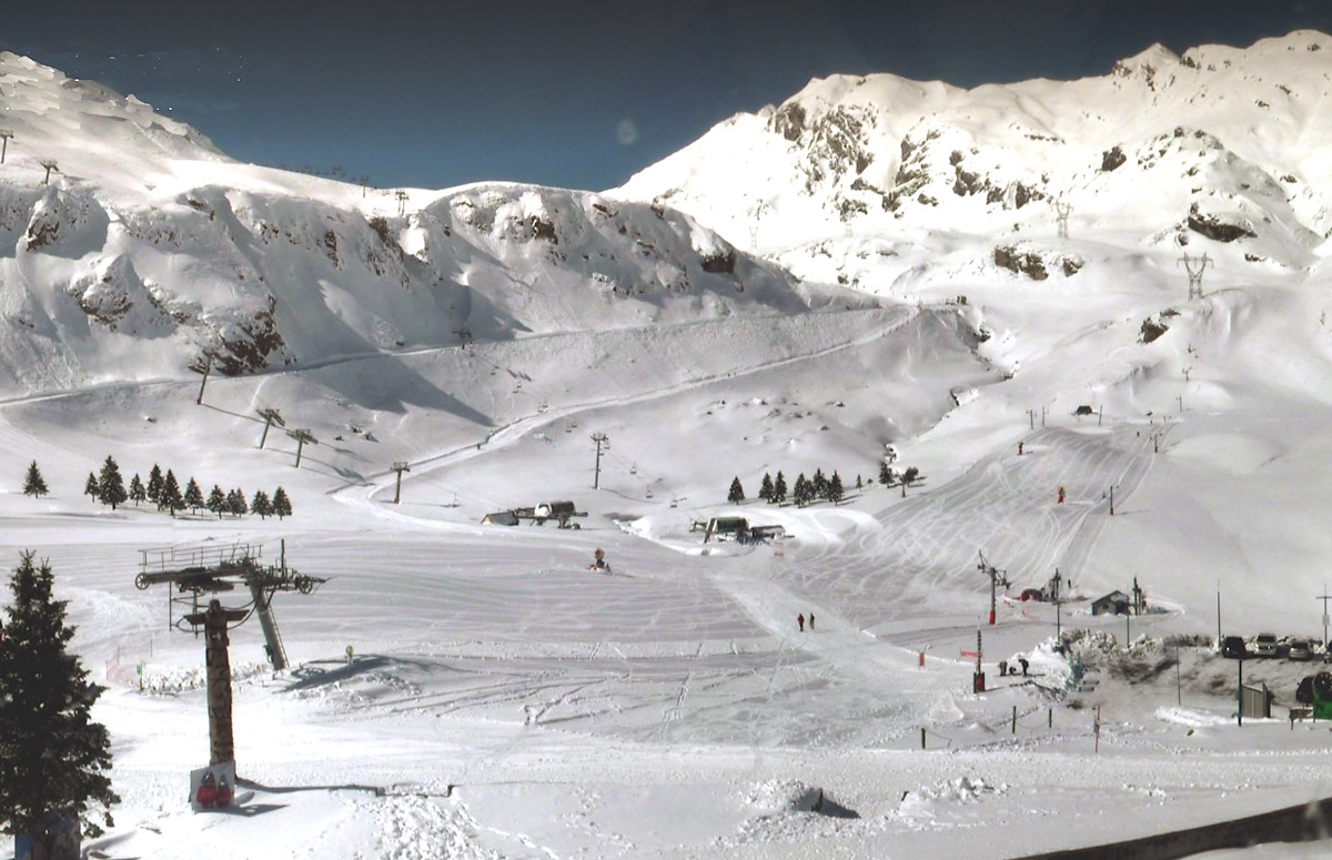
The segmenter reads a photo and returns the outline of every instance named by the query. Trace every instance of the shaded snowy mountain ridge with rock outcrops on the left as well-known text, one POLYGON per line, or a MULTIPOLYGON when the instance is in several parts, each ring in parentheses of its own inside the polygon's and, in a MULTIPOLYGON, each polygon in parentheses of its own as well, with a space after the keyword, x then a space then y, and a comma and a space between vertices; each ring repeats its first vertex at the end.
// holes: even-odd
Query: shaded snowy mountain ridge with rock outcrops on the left
POLYGON ((173 377, 205 353, 234 374, 811 302, 661 206, 502 184, 384 192, 237 164, 133 96, 13 55, 0 103, 4 391, 127 365, 173 377))

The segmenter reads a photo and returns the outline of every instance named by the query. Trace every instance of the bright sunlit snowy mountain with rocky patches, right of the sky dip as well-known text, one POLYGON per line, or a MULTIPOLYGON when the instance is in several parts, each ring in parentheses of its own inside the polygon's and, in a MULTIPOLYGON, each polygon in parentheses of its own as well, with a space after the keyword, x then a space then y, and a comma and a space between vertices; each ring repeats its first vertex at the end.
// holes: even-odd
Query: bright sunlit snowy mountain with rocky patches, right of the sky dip
POLYGON ((1329 49, 1332 37, 1300 31, 1183 56, 1155 45, 1076 81, 814 80, 613 193, 874 292, 920 277, 910 249, 923 233, 974 238, 991 270, 1074 277, 1084 261, 1050 242, 1056 204, 1074 238, 1114 232, 1143 250, 1303 268, 1332 233, 1329 49))

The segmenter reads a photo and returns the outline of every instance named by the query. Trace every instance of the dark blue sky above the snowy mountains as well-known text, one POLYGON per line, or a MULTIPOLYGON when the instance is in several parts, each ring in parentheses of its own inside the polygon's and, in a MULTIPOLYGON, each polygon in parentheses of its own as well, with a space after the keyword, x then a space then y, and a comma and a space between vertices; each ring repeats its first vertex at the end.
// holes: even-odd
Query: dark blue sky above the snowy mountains
POLYGON ((17 4, 0 48, 135 93, 228 154, 378 186, 602 189, 811 77, 1104 75, 1152 43, 1332 32, 1328 0, 17 4))

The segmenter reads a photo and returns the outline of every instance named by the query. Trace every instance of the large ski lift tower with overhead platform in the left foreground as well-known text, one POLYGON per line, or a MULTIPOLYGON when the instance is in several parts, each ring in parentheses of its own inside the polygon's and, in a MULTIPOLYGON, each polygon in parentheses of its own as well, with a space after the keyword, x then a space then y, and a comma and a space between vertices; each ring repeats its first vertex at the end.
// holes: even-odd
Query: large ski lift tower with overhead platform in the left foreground
POLYGON ((273 595, 278 591, 312 594, 328 582, 306 576, 286 566, 286 551, 278 564, 260 562, 262 547, 169 547, 140 550, 141 563, 135 586, 140 590, 168 586, 166 626, 204 634, 204 664, 208 668, 209 765, 236 763, 232 736, 232 663, 228 631, 258 615, 264 628, 264 650, 274 671, 286 668, 286 651, 273 618, 273 595), (229 592, 249 591, 249 600, 224 606, 229 592))

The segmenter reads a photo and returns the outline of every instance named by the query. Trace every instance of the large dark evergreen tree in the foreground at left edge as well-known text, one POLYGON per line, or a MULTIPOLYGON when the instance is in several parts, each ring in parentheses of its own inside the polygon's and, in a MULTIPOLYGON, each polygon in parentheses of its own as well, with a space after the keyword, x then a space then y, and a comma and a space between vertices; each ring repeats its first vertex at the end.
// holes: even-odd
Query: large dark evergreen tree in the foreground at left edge
POLYGON ((111 738, 89 715, 105 687, 88 680, 65 651, 75 628, 52 599, 51 566, 24 552, 9 580, 13 603, 0 638, 0 831, 29 833, 51 856, 51 813, 77 820, 88 836, 111 827, 111 738))

